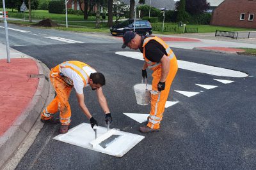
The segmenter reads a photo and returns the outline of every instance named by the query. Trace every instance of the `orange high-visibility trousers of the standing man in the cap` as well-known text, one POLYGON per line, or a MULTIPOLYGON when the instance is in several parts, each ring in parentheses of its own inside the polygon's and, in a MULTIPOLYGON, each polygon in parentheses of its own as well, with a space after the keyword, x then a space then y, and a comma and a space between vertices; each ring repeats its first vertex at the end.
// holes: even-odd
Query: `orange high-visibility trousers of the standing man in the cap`
MULTIPOLYGON (((151 94, 151 110, 150 110, 150 116, 147 124, 147 126, 150 127, 151 129, 159 129, 160 127, 160 122, 163 118, 163 113, 164 113, 164 106, 170 92, 172 81, 175 78, 177 71, 178 71, 177 59, 176 57, 173 57, 170 60, 170 70, 165 81, 165 89, 156 94, 151 94)), ((152 73, 152 77, 153 77, 152 91, 157 91, 157 84, 161 79, 161 73, 162 73, 161 67, 157 68, 152 73)))

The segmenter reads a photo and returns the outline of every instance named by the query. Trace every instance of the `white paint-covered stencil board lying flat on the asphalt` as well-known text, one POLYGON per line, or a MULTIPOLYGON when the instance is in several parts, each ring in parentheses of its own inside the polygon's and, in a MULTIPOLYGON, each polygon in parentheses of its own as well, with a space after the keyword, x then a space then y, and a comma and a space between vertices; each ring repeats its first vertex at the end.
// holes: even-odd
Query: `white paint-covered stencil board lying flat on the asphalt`
MULTIPOLYGON (((107 132, 106 127, 100 127, 97 129, 97 135, 100 140, 95 140, 95 132, 93 131, 90 124, 80 124, 72 129, 69 129, 66 134, 59 134, 53 139, 69 143, 71 145, 80 146, 97 152, 106 153, 115 157, 122 157, 125 153, 129 152, 131 148, 140 143, 145 136, 138 134, 131 134, 128 132, 119 131, 118 129, 111 129, 107 132), (105 135, 107 133, 107 135, 105 135), (105 137, 109 134, 121 135, 106 148, 102 148, 99 144, 101 136, 105 137), (90 144, 91 143, 91 144, 90 144), (93 143, 93 147, 92 147, 93 143)), ((106 138, 105 138, 106 139, 106 138)))

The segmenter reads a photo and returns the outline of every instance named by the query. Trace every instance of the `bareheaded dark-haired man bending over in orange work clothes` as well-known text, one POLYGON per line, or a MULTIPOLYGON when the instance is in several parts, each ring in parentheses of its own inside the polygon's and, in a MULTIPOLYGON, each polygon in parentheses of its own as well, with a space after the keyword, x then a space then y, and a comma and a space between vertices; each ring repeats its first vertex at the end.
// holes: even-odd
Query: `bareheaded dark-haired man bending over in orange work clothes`
POLYGON ((84 103, 83 88, 90 86, 92 90, 96 91, 100 106, 105 113, 106 124, 112 121, 111 113, 108 108, 106 97, 102 92, 102 86, 105 85, 106 80, 102 73, 97 73, 93 67, 84 62, 71 60, 53 67, 50 72, 51 83, 56 92, 56 97, 53 101, 42 111, 41 121, 50 123, 61 122, 60 133, 68 132, 70 125, 71 110, 68 103, 68 98, 72 87, 76 90, 77 101, 84 115, 90 119, 90 124, 93 127, 98 125, 95 118, 92 117, 90 111, 84 103), (60 111, 60 118, 54 118, 54 113, 60 111))

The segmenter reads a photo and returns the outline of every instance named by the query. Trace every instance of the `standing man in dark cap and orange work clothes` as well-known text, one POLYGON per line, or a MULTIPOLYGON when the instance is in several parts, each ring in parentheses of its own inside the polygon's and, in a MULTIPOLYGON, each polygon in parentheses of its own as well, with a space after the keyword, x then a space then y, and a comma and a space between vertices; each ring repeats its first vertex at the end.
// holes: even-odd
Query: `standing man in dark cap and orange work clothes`
POLYGON ((140 36, 132 31, 125 32, 122 48, 140 49, 145 60, 142 67, 142 77, 147 78, 146 69, 152 73, 151 110, 148 124, 140 127, 140 131, 159 131, 163 118, 164 106, 170 92, 172 81, 178 70, 175 54, 161 38, 157 36, 140 36))

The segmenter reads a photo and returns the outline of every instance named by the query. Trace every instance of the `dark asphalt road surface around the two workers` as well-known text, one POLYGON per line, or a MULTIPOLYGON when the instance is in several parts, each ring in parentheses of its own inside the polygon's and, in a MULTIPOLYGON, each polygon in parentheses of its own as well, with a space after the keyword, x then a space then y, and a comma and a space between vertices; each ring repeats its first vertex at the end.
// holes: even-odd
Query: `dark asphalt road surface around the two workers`
MULTIPOLYGON (((168 101, 179 103, 166 108, 160 132, 142 134, 138 128, 145 123, 139 124, 123 113, 148 113, 150 110, 149 106, 136 104, 132 89, 134 84, 141 81, 143 61, 116 55, 115 52, 130 51, 120 48, 119 40, 93 36, 90 42, 92 35, 53 30, 46 32, 69 39, 73 37, 76 41, 84 42, 86 39, 86 42, 56 44, 51 39, 45 42, 44 38, 33 38, 22 46, 20 39, 15 41, 13 37, 14 40, 10 40, 12 48, 41 60, 50 68, 65 60, 81 60, 95 67, 106 76, 103 90, 113 116, 111 127, 143 135, 145 139, 124 157, 116 158, 55 141, 52 138, 58 135, 60 125, 45 124, 17 169, 256 168, 255 57, 173 49, 179 60, 243 71, 249 76, 230 78, 179 69, 168 97, 168 101), (37 43, 40 41, 44 43, 37 43), (223 84, 214 78, 234 82, 223 84), (206 90, 195 83, 218 87, 206 90), (174 90, 200 94, 186 97, 174 90)), ((2 36, 0 41, 3 41, 2 36)), ((104 114, 95 92, 85 88, 84 94, 90 112, 103 126, 104 114)), ((69 101, 72 109, 71 127, 89 122, 79 109, 74 90, 69 101)))

